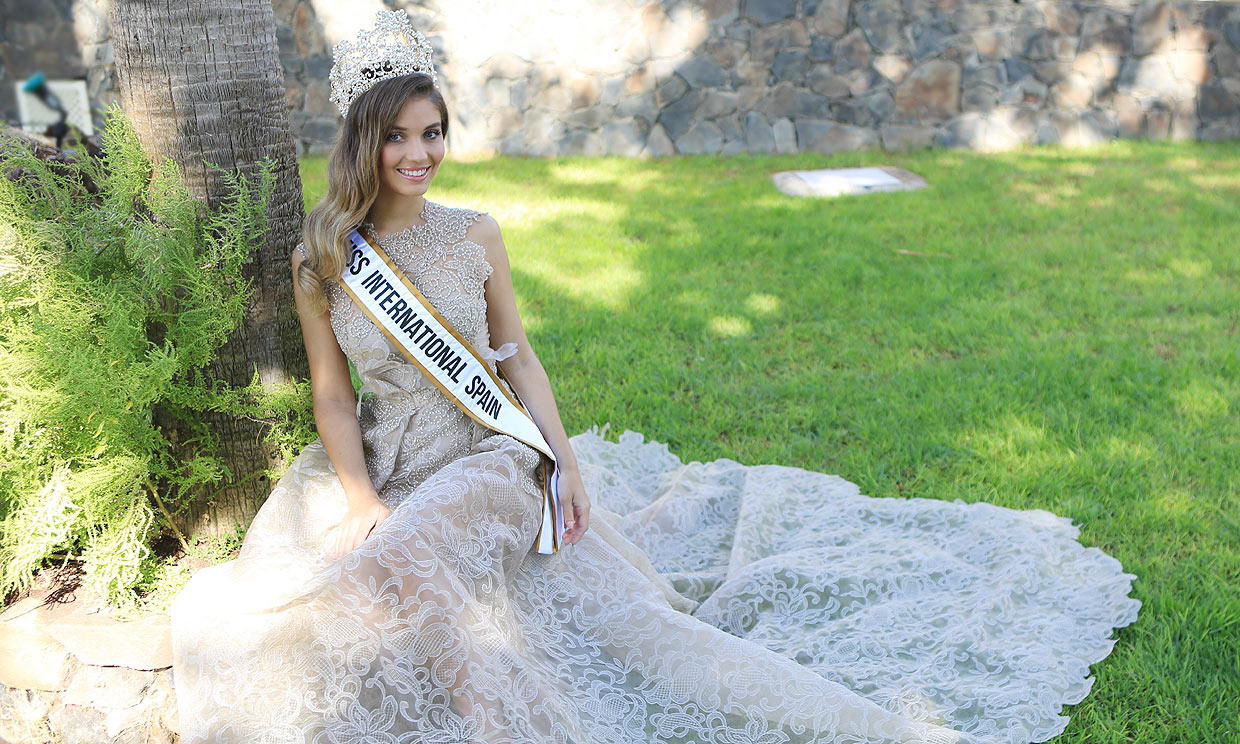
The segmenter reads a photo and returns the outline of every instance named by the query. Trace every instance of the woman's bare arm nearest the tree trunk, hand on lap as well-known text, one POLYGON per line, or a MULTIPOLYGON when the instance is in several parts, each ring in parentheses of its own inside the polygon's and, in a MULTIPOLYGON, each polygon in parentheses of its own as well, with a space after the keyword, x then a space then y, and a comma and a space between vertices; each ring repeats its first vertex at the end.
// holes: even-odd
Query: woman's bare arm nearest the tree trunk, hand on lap
POLYGON ((319 438, 327 450, 345 496, 348 511, 339 525, 327 531, 324 548, 332 558, 362 544, 371 531, 388 517, 391 511, 379 501, 374 484, 366 471, 362 455, 362 430, 357 423, 357 399, 353 382, 348 376, 348 360, 336 342, 327 311, 314 312, 298 286, 298 267, 303 257, 293 252, 293 298, 301 321, 301 339, 310 361, 310 387, 314 392, 314 423, 319 438))

